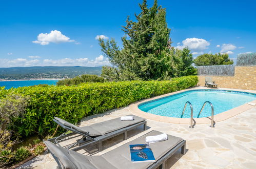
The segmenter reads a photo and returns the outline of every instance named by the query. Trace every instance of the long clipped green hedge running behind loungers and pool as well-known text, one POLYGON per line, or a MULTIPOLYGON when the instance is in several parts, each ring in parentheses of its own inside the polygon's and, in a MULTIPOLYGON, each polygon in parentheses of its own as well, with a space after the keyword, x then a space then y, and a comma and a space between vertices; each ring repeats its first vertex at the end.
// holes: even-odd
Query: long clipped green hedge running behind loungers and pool
MULTIPOLYGON (((53 133, 54 116, 71 123, 83 117, 124 107, 132 102, 193 87, 197 76, 173 78, 168 81, 121 81, 82 83, 79 86, 22 87, 8 92, 29 95, 30 101, 23 117, 14 120, 13 129, 19 135, 53 133)), ((0 97, 7 90, 0 89, 0 97)))

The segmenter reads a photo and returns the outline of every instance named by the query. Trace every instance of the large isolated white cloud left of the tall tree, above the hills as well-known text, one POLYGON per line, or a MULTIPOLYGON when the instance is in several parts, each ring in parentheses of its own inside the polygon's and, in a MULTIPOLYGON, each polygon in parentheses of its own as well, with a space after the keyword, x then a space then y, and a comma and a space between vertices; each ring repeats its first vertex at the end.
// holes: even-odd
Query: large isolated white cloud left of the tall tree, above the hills
POLYGON ((41 45, 49 45, 50 43, 67 43, 67 42, 73 42, 74 40, 70 40, 69 37, 62 34, 61 31, 51 31, 50 33, 40 33, 37 36, 37 40, 32 41, 32 43, 35 44, 41 44, 41 45))

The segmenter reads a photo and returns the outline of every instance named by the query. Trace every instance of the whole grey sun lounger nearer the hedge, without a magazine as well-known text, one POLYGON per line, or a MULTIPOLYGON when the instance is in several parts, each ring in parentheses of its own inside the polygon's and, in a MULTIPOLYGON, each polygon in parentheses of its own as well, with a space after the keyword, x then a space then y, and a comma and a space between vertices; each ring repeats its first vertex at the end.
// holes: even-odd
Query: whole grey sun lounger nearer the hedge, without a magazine
POLYGON ((121 121, 120 118, 115 118, 83 127, 75 126, 74 124, 71 124, 61 118, 54 117, 53 121, 55 121, 62 128, 66 129, 67 132, 71 131, 72 133, 66 134, 67 132, 65 132, 58 137, 49 139, 48 141, 54 142, 61 146, 59 143, 70 139, 71 136, 76 135, 75 137, 78 137, 82 135, 83 137, 81 139, 78 139, 77 142, 68 145, 66 148, 72 149, 75 147, 72 150, 78 151, 84 149, 86 146, 98 145, 98 151, 100 152, 102 151, 102 142, 104 140, 120 134, 124 135, 125 140, 127 138, 127 131, 130 131, 140 125, 144 125, 144 130, 146 130, 147 122, 144 118, 134 115, 128 116, 133 116, 134 119, 131 121, 121 121))

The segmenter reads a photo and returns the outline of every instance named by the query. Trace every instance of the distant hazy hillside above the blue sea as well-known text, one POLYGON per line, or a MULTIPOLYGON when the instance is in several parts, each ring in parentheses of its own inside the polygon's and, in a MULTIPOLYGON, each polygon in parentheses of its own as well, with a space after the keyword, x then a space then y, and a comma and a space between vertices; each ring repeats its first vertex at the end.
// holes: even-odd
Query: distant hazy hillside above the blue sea
POLYGON ((71 78, 82 74, 101 74, 102 67, 13 67, 0 68, 0 80, 71 78))

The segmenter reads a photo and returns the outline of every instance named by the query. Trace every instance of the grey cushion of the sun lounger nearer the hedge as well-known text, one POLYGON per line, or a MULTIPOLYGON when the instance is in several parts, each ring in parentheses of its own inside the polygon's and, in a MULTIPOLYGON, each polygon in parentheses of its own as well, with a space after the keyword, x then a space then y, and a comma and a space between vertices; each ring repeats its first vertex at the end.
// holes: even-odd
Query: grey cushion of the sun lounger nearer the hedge
POLYGON ((134 115, 127 115, 127 116, 133 116, 134 120, 121 121, 119 117, 112 120, 107 120, 107 121, 103 121, 103 122, 99 122, 99 123, 95 123, 95 124, 83 126, 83 127, 77 127, 58 117, 54 117, 54 118, 60 121, 61 123, 63 123, 64 125, 69 126, 70 128, 73 128, 81 133, 88 134, 89 136, 101 136, 101 135, 125 128, 127 126, 130 126, 145 120, 145 118, 134 116, 134 115))

